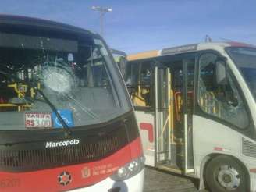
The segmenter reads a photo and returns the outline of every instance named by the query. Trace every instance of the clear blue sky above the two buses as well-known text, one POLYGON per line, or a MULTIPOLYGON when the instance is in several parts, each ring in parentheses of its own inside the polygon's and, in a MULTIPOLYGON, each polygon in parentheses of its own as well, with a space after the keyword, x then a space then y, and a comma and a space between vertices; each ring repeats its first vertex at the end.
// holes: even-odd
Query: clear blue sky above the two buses
POLYGON ((256 44, 255 0, 1 0, 0 12, 61 21, 99 32, 92 5, 105 15, 105 40, 126 53, 230 39, 256 44))

